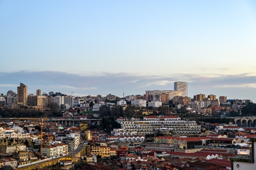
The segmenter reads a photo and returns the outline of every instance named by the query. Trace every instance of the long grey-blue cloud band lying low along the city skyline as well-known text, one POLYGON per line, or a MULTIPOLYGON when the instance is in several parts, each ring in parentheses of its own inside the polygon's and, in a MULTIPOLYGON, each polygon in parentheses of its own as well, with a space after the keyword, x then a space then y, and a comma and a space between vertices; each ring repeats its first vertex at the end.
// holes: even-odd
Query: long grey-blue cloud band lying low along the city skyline
POLYGON ((175 81, 187 81, 189 96, 203 93, 206 95, 228 96, 228 98, 250 98, 254 100, 256 91, 256 76, 239 75, 209 75, 198 74, 166 74, 166 75, 135 75, 128 73, 100 73, 79 75, 65 72, 0 72, 0 93, 8 90, 16 91, 20 82, 28 86, 28 92, 34 93, 37 89, 62 92, 76 95, 111 93, 117 96, 144 94, 146 89, 174 89, 175 81), (247 87, 248 86, 248 87, 247 87), (15 87, 15 88, 14 88, 15 87))

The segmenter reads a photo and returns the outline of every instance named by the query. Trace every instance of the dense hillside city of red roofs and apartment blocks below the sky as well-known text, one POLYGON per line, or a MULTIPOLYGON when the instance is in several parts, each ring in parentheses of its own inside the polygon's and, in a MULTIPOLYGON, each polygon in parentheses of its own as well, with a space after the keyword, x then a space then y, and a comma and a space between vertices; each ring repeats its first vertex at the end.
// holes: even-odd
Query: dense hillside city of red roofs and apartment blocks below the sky
POLYGON ((173 90, 122 97, 28 89, 20 83, 0 95, 2 167, 96 170, 107 161, 110 169, 231 170, 232 159, 252 155, 256 104, 250 99, 191 98, 183 81, 173 90))

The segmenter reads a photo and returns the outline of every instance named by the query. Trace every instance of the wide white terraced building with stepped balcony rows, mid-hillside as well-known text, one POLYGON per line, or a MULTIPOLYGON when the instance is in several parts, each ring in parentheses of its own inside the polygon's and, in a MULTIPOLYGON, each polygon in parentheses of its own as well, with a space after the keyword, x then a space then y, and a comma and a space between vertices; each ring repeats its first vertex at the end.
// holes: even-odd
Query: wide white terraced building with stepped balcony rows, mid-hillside
POLYGON ((178 116, 145 116, 143 120, 120 117, 120 129, 113 129, 115 136, 156 134, 172 131, 173 134, 200 134, 201 126, 195 121, 181 120, 178 116))

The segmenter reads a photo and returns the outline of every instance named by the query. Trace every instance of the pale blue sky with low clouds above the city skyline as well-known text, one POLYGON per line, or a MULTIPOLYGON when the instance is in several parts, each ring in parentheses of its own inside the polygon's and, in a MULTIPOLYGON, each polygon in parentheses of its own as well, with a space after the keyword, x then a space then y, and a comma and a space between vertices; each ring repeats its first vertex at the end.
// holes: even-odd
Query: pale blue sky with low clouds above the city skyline
POLYGON ((254 0, 0 0, 0 93, 22 82, 69 95, 144 94, 256 102, 254 0))

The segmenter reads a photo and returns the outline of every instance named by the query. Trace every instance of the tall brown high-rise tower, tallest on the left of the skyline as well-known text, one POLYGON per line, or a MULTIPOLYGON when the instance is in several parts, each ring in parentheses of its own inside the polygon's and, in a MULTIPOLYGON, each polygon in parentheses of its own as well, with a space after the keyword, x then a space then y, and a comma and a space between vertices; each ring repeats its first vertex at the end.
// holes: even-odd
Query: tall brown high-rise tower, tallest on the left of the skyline
POLYGON ((27 106, 27 86, 20 83, 17 87, 17 107, 27 106))

